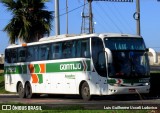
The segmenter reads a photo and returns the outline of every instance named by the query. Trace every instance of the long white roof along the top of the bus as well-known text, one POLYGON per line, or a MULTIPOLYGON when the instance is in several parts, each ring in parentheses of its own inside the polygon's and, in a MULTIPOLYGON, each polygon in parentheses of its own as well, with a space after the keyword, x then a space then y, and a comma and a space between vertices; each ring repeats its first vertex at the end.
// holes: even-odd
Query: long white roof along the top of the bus
POLYGON ((131 34, 121 34, 121 33, 94 33, 94 34, 63 34, 63 35, 57 35, 57 36, 50 36, 50 37, 44 37, 41 38, 37 42, 32 42, 32 43, 23 43, 23 44, 12 44, 8 46, 7 48, 15 48, 15 47, 22 47, 22 46, 28 46, 28 45, 37 45, 37 44, 45 44, 48 42, 58 42, 58 41, 65 41, 65 40, 73 40, 73 39, 83 39, 83 38, 88 38, 88 37, 100 37, 100 38, 105 38, 105 37, 134 37, 134 38, 141 38, 141 36, 138 35, 131 35, 131 34))

